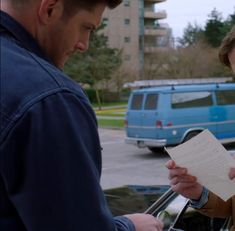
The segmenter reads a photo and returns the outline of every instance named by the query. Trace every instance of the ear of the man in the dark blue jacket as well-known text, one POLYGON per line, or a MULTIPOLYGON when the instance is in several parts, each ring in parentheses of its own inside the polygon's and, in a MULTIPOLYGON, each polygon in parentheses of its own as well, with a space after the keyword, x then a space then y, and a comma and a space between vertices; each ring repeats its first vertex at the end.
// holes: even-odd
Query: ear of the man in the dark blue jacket
POLYGON ((63 12, 63 0, 41 0, 38 9, 38 16, 43 24, 48 24, 54 20, 59 19, 63 12))

